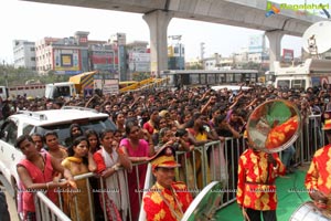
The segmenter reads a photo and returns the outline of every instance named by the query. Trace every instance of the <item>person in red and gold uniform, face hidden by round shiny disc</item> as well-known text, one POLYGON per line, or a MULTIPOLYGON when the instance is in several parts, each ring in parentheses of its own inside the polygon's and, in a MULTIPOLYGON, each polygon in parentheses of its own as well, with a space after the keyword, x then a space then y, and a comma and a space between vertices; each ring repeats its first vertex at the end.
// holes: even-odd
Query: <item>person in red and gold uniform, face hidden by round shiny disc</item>
POLYGON ((285 173, 285 166, 277 154, 249 148, 239 157, 237 203, 245 219, 264 221, 276 219, 277 196, 275 180, 285 173))

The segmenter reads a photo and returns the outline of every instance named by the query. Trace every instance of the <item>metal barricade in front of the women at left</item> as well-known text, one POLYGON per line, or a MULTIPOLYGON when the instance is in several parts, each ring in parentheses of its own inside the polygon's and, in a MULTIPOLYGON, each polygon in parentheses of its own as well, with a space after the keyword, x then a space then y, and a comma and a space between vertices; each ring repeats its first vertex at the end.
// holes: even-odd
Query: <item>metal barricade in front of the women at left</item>
MULTIPOLYGON (((119 209, 120 217, 122 218, 122 220, 132 220, 132 212, 131 212, 131 207, 130 207, 130 197, 132 197, 132 196, 129 196, 128 177, 132 176, 132 173, 136 175, 136 177, 134 177, 134 179, 136 180, 137 183, 139 183, 139 176, 140 176, 141 171, 139 171, 138 168, 139 168, 139 166, 146 165, 146 164, 147 162, 134 164, 131 171, 127 171, 124 168, 119 168, 116 173, 111 175, 111 176, 118 176, 120 172, 122 172, 124 180, 125 180, 125 191, 120 190, 119 189, 120 187, 109 189, 107 186, 105 186, 105 179, 103 179, 102 177, 97 177, 93 172, 87 172, 87 173, 83 173, 83 175, 78 175, 78 176, 74 177, 74 179, 77 182, 85 180, 86 189, 83 186, 78 186, 77 190, 70 190, 70 189, 56 189, 55 190, 58 196, 58 206, 54 204, 46 197, 45 192, 42 192, 42 191, 36 192, 34 194, 34 202, 36 206, 35 208, 36 208, 38 220, 40 220, 40 221, 51 221, 51 220, 52 221, 53 220, 67 221, 67 220, 71 220, 70 215, 67 215, 66 213, 68 213, 72 210, 71 208, 74 207, 75 214, 77 214, 76 220, 84 221, 84 218, 79 218, 79 209, 78 209, 79 200, 77 200, 77 198, 75 197, 75 191, 79 193, 82 191, 82 189, 87 190, 86 194, 87 194, 88 200, 84 201, 84 206, 85 206, 85 210, 89 209, 89 219, 90 220, 95 220, 95 214, 94 214, 95 207, 102 207, 103 213, 104 213, 104 215, 103 215, 104 220, 105 221, 108 220, 107 209, 105 209, 109 206, 109 204, 107 204, 107 201, 105 198, 106 197, 105 193, 107 193, 107 192, 119 192, 118 197, 121 198, 119 201, 121 202, 121 200, 126 200, 125 204, 127 206, 126 211, 122 211, 119 209), (99 186, 97 187, 97 189, 95 189, 95 187, 92 188, 92 186, 89 185, 90 178, 98 179, 99 186), (97 202, 97 204, 95 204, 95 202, 93 200, 93 193, 99 194, 99 197, 102 198, 102 202, 97 202), (73 206, 71 206, 70 208, 66 208, 67 201, 70 200, 68 198, 71 199, 73 206)), ((134 192, 137 192, 138 203, 140 206, 142 203, 142 193, 145 192, 145 189, 142 189, 142 190, 139 189, 139 185, 138 185, 137 189, 135 189, 134 192)))

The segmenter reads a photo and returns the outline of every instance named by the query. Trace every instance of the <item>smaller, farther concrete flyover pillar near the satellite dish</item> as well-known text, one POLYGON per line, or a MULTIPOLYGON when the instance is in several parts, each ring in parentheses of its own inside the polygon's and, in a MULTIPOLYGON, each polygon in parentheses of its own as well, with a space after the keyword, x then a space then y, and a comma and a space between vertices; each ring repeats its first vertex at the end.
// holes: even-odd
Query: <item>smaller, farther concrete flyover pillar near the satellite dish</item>
POLYGON ((269 69, 270 71, 275 71, 274 69, 274 62, 280 61, 280 45, 281 45, 281 39, 284 36, 284 31, 266 31, 265 33, 269 40, 269 69))

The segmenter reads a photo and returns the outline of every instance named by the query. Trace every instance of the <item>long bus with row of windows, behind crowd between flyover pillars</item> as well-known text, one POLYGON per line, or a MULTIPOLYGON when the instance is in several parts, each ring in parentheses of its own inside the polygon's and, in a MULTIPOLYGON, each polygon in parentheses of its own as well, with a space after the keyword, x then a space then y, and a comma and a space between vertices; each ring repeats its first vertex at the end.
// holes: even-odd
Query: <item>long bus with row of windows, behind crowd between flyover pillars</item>
POLYGON ((161 77, 169 77, 167 86, 199 86, 199 85, 224 85, 239 83, 258 83, 257 70, 175 70, 162 71, 161 77))

